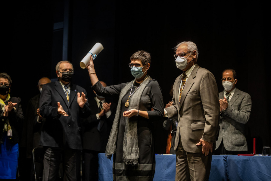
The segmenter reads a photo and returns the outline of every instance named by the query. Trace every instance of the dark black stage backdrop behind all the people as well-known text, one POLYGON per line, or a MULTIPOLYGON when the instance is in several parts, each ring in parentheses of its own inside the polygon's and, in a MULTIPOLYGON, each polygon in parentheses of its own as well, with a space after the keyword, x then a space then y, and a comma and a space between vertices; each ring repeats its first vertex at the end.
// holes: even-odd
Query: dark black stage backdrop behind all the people
MULTIPOLYGON (((150 75, 162 89, 164 104, 170 87, 182 72, 176 68, 173 48, 193 41, 199 50, 198 64, 216 77, 235 69, 236 87, 252 98, 247 126, 249 152, 270 146, 269 9, 260 1, 36 1, 5 2, 2 12, 4 40, 0 72, 13 81, 11 93, 27 101, 38 93, 42 76, 56 78, 58 61, 73 63, 73 82, 94 94, 86 69, 79 62, 96 42, 104 50, 94 60, 97 76, 107 85, 133 79, 128 63, 132 53, 151 53, 150 75)), ((167 131, 155 124, 156 153, 164 153, 167 131)))

